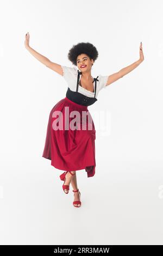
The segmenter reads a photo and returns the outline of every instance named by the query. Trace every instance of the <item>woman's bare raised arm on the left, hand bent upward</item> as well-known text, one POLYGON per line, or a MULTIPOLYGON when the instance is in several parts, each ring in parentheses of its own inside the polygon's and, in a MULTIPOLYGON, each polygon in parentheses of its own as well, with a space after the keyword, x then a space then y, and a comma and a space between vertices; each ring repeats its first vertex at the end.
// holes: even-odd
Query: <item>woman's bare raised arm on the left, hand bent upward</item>
POLYGON ((41 55, 39 52, 36 52, 32 47, 29 46, 29 33, 26 34, 25 36, 25 41, 24 41, 26 49, 37 59, 39 62, 47 66, 49 69, 54 70, 57 72, 59 75, 63 75, 63 70, 61 68, 61 65, 51 62, 48 58, 45 56, 41 55))

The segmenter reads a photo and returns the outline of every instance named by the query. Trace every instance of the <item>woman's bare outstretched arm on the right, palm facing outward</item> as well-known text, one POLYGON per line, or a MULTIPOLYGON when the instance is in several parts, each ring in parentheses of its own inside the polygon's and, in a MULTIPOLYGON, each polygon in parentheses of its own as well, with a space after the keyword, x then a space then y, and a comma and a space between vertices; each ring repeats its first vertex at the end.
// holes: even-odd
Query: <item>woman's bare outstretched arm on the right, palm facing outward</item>
POLYGON ((120 79, 121 77, 123 77, 124 75, 127 75, 129 72, 131 72, 133 69, 135 69, 137 66, 139 66, 139 64, 141 62, 143 62, 144 60, 144 56, 143 56, 143 51, 142 51, 142 42, 140 44, 139 47, 139 54, 140 54, 140 58, 139 60, 137 60, 136 62, 132 63, 129 66, 126 66, 126 68, 121 69, 120 71, 108 76, 108 81, 106 83, 106 86, 109 86, 109 84, 117 81, 118 79, 120 79))

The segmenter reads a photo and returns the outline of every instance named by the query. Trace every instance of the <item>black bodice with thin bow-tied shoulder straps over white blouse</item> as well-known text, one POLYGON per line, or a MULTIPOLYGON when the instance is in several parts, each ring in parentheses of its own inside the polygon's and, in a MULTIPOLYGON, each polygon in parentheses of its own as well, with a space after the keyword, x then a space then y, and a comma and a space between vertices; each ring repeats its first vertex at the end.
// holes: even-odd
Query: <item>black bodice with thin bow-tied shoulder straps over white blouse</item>
MULTIPOLYGON (((84 105, 84 106, 90 106, 92 105, 93 103, 95 103, 97 101, 96 99, 96 87, 97 87, 97 81, 98 81, 98 76, 97 78, 93 78, 93 82, 95 81, 95 95, 94 97, 87 97, 85 95, 83 95, 82 93, 79 93, 78 92, 78 87, 79 87, 79 77, 80 77, 80 74, 82 74, 82 72, 80 72, 78 70, 78 80, 77 80, 77 88, 76 88, 76 92, 73 92, 69 87, 67 89, 67 92, 66 92, 66 97, 75 102, 75 103, 78 103, 79 105, 84 105)), ((92 82, 92 83, 93 83, 92 82)))

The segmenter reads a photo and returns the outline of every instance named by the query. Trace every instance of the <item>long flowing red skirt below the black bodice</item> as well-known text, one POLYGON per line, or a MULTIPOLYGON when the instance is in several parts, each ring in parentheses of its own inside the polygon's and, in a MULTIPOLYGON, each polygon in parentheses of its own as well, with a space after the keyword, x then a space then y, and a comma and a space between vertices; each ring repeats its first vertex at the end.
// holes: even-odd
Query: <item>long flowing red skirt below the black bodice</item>
POLYGON ((51 165, 57 169, 73 171, 85 169, 87 177, 92 177, 95 175, 96 167, 95 139, 95 125, 87 106, 79 105, 65 97, 55 104, 49 114, 42 157, 51 160, 51 165), (67 125, 76 118, 76 115, 72 117, 72 111, 77 111, 79 113, 78 117, 80 116, 76 119, 74 125, 76 129, 70 129, 72 126, 67 125), (83 111, 90 118, 86 117, 84 119, 82 115, 83 111), (58 130, 56 129, 57 120, 58 123, 62 120, 60 123, 62 125, 59 126, 58 130), (88 129, 90 120, 92 125, 90 126, 91 129, 88 129), (80 130, 77 128, 79 126, 80 130), (83 129, 82 127, 85 128, 83 129))

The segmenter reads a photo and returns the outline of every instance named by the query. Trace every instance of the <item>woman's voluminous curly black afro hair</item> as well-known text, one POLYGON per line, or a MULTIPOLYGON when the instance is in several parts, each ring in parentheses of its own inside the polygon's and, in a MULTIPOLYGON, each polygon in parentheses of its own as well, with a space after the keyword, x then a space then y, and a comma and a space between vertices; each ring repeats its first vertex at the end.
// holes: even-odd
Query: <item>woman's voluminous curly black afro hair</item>
POLYGON ((82 53, 85 53, 90 59, 93 59, 94 62, 98 57, 96 47, 90 44, 90 42, 79 42, 77 45, 73 45, 68 52, 68 59, 73 65, 77 66, 77 57, 82 53))

